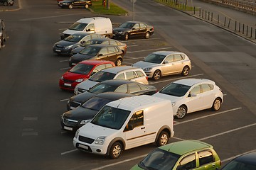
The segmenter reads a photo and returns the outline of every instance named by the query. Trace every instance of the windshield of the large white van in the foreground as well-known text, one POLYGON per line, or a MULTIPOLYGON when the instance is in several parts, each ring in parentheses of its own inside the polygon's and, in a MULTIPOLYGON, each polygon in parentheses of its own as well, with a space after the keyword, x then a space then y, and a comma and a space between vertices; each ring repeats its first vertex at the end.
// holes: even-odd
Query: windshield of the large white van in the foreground
POLYGON ((103 126, 105 128, 119 130, 122 128, 122 125, 124 125, 125 120, 127 120, 129 113, 130 111, 120 108, 104 106, 104 108, 95 115, 95 118, 93 118, 90 123, 103 126))

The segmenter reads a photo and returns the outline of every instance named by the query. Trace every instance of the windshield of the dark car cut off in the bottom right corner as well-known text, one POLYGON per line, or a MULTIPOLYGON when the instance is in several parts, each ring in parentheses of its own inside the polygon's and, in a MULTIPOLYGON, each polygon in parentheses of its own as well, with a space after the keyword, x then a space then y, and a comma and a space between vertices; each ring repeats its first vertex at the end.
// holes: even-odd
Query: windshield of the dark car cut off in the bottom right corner
POLYGON ((226 166, 224 166, 223 170, 255 170, 256 165, 255 164, 250 164, 246 162, 238 162, 236 160, 231 161, 228 163, 226 166))

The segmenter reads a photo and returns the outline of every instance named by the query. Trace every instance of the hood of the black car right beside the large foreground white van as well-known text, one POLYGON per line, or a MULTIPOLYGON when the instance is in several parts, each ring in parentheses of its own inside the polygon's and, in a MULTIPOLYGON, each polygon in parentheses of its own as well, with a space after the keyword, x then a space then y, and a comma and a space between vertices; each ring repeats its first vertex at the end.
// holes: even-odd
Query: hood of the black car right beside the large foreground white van
POLYGON ((90 120, 93 118, 93 116, 97 113, 98 111, 89 109, 89 108, 82 108, 81 106, 78 108, 75 108, 71 111, 68 111, 64 113, 64 116, 67 118, 70 118, 72 120, 90 120))

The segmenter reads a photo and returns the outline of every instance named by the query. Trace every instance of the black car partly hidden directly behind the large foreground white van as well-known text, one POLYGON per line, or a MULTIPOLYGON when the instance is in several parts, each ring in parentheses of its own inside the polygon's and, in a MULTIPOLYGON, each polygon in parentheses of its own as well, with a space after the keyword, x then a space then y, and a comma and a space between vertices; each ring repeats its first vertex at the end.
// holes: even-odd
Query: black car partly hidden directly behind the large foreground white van
POLYGON ((134 95, 116 92, 97 94, 83 103, 82 106, 63 113, 60 118, 60 125, 63 130, 75 132, 78 128, 82 127, 82 125, 85 125, 85 123, 90 121, 93 116, 96 115, 96 113, 107 103, 131 96, 134 95))

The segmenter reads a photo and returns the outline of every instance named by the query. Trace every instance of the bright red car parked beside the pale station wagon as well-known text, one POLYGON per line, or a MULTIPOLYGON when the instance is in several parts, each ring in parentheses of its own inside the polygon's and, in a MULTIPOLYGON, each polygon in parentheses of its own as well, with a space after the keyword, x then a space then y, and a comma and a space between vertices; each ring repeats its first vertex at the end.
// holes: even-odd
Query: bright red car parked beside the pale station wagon
POLYGON ((92 74, 95 74, 102 69, 114 66, 114 62, 105 60, 84 60, 79 62, 60 77, 60 89, 73 91, 77 84, 89 79, 92 74))

